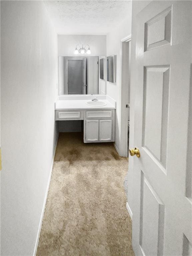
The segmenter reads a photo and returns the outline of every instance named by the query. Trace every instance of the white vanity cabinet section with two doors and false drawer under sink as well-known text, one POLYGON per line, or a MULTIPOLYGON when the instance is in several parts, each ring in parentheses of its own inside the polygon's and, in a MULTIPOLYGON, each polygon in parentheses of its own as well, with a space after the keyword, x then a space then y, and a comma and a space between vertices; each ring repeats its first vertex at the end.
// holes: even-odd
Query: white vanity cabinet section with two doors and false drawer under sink
POLYGON ((115 141, 115 110, 84 113, 84 143, 115 141))

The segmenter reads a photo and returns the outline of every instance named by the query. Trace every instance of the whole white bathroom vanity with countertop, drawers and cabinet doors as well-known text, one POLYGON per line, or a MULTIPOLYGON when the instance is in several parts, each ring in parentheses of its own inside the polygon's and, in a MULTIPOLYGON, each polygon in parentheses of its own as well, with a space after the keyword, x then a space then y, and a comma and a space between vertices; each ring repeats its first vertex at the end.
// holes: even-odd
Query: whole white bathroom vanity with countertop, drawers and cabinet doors
POLYGON ((92 95, 59 96, 55 120, 84 120, 84 143, 115 141, 116 102, 107 95, 97 95, 95 102, 93 98, 92 95))

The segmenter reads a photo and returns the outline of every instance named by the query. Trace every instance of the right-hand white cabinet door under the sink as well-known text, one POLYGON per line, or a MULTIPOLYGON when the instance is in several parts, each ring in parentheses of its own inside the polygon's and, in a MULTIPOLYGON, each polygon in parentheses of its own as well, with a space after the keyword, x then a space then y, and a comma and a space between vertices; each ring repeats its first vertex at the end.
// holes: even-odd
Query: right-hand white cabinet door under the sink
POLYGON ((99 120, 99 140, 112 140, 112 120, 99 120))

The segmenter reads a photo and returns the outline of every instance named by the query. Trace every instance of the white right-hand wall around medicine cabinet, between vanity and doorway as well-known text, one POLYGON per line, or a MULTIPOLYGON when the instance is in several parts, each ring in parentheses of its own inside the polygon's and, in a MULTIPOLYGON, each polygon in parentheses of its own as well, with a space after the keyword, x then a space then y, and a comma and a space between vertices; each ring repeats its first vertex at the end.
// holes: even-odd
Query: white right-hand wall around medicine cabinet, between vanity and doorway
POLYGON ((107 35, 107 56, 116 55, 116 83, 107 82, 107 94, 116 100, 116 120, 115 120, 115 146, 119 152, 120 146, 120 113, 121 113, 121 104, 120 104, 120 47, 121 40, 131 34, 131 2, 130 2, 130 12, 127 13, 127 19, 119 24, 118 27, 114 29, 111 33, 107 35))

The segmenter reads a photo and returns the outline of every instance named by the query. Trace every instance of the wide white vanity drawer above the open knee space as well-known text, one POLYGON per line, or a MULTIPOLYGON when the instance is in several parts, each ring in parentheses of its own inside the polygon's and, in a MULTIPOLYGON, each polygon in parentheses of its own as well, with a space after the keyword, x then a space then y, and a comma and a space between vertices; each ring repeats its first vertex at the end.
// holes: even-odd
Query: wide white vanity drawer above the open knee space
POLYGON ((83 120, 83 111, 62 111, 56 110, 55 120, 83 120))

